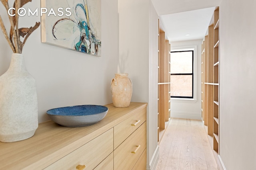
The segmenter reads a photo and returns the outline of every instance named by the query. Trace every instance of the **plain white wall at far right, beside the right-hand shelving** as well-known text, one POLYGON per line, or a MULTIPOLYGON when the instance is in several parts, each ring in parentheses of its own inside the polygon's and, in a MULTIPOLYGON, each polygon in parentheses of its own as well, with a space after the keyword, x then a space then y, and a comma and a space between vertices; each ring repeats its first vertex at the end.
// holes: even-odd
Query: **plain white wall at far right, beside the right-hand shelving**
POLYGON ((227 170, 256 169, 256 1, 220 5, 220 157, 227 170))

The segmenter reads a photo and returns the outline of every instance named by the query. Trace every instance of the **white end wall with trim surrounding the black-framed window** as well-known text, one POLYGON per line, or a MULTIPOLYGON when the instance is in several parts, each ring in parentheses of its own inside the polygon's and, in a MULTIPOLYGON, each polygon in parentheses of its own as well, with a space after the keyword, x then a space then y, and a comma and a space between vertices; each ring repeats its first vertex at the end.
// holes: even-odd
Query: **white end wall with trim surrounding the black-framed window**
MULTIPOLYGON (((170 40, 171 41, 171 40, 170 40)), ((185 119, 202 119, 201 116, 201 100, 202 100, 202 83, 201 83, 201 72, 202 72, 202 40, 192 41, 180 41, 172 42, 171 49, 193 47, 196 46, 196 100, 183 100, 183 99, 171 99, 171 117, 185 118, 185 119)))

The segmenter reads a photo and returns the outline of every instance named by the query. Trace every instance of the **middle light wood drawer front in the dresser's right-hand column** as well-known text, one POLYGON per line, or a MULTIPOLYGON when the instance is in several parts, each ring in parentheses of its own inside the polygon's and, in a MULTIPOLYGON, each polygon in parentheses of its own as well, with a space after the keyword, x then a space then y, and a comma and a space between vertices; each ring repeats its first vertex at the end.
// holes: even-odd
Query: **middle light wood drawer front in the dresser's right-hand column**
POLYGON ((146 122, 144 122, 114 150, 114 170, 131 170, 133 168, 146 149, 146 130, 146 122))

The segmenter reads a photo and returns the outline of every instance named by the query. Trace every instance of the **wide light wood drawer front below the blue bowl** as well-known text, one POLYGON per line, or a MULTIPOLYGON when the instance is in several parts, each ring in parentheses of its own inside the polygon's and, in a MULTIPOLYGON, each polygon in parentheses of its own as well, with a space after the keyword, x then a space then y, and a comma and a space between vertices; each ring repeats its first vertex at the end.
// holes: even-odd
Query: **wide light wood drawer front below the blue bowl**
POLYGON ((113 128, 54 162, 46 170, 76 170, 77 165, 85 165, 86 170, 92 170, 111 152, 113 152, 113 128))

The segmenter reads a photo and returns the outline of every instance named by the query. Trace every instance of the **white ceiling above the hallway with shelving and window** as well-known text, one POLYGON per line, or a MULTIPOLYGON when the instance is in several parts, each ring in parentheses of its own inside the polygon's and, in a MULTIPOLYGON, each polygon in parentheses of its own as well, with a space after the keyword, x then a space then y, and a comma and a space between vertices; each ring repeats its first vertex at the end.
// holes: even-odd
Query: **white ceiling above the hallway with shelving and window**
POLYGON ((152 0, 170 42, 203 39, 222 0, 152 0), (189 34, 189 35, 187 35, 189 34))

